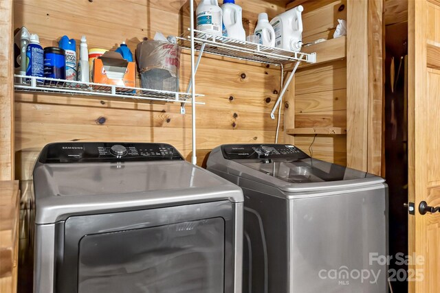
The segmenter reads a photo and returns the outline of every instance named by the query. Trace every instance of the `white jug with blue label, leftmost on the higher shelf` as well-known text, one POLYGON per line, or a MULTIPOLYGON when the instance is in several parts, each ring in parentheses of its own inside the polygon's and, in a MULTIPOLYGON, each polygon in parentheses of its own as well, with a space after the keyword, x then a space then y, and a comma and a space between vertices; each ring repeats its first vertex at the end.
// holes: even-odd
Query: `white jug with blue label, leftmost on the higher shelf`
MULTIPOLYGON (((196 30, 212 34, 214 36, 223 35, 223 10, 219 7, 217 0, 201 0, 197 6, 196 30)), ((199 34, 197 34, 199 36, 199 34)))

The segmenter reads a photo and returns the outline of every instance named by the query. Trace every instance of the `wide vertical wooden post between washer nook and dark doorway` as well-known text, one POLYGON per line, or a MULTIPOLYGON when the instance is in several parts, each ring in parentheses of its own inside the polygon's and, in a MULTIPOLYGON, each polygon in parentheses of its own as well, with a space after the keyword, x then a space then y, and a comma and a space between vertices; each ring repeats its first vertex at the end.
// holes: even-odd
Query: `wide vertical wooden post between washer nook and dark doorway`
POLYGON ((382 174, 384 97, 382 0, 349 0, 347 166, 382 174))

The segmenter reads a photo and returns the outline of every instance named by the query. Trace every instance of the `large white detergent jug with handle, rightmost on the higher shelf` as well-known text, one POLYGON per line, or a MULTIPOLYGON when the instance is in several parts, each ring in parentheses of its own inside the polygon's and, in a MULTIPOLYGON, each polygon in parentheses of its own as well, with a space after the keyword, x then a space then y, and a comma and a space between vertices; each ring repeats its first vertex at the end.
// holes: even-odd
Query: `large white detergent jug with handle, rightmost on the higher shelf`
POLYGON ((289 51, 300 51, 303 45, 302 5, 287 10, 274 17, 270 24, 274 27, 276 40, 275 47, 289 51))

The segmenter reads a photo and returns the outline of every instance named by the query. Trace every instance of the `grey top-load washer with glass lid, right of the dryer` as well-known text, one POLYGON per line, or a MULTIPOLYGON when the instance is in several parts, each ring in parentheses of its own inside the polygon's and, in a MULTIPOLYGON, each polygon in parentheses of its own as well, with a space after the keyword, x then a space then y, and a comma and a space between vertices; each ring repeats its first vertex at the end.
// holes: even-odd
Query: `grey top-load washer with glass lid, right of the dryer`
POLYGON ((243 293, 386 293, 384 179, 294 145, 221 145, 208 169, 243 189, 243 293))

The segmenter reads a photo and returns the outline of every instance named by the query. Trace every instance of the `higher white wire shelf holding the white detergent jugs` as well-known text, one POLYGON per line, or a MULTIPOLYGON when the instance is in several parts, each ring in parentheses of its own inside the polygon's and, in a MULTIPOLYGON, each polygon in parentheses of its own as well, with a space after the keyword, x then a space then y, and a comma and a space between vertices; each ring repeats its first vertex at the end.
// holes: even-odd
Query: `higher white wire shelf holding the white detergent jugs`
MULTIPOLYGON (((206 32, 194 30, 195 49, 200 51, 203 43, 204 51, 209 54, 248 60, 271 65, 286 65, 291 62, 316 62, 316 53, 287 51, 274 47, 250 43, 225 36, 214 36, 206 32)), ((184 49, 191 49, 190 29, 177 37, 177 41, 184 49)))

